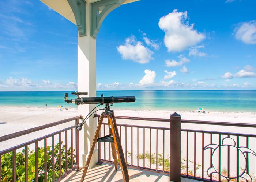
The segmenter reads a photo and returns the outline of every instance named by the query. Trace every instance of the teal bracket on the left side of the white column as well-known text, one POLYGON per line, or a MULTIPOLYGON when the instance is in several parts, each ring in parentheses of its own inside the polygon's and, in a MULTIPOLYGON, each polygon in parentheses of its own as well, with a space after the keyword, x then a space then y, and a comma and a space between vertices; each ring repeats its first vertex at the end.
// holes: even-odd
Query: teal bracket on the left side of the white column
POLYGON ((79 36, 86 36, 86 2, 84 0, 67 1, 74 13, 79 36))

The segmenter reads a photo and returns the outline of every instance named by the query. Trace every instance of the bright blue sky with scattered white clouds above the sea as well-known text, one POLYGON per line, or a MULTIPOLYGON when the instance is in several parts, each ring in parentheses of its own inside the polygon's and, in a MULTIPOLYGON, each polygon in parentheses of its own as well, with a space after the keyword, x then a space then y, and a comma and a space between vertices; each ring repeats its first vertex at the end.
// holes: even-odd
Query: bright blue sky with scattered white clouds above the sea
MULTIPOLYGON (((121 5, 97 35, 97 90, 255 89, 255 7, 255 0, 121 5)), ((76 90, 77 36, 76 25, 39 0, 0 1, 0 91, 76 90)))

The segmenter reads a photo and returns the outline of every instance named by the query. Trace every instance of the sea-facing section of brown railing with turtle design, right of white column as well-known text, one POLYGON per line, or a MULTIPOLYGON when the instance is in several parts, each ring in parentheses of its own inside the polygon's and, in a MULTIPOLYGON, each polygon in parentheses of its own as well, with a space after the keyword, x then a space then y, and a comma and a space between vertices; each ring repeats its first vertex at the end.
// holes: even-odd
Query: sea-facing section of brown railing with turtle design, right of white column
MULTIPOLYGON (((100 115, 94 115, 99 119, 100 115)), ((169 122, 170 119, 116 116, 116 119, 169 122)), ((174 122, 174 121, 173 121, 174 122)), ((256 124, 180 120, 181 123, 256 128, 256 124)), ((109 134, 103 123, 101 135, 109 134)), ((181 140, 171 138, 170 127, 117 124, 127 165, 132 168, 174 174, 180 161, 180 176, 200 181, 256 181, 256 135, 180 128, 181 140), (180 146, 181 155, 177 158, 180 146), (171 145, 171 147, 170 147, 171 145), (172 151, 172 154, 170 154, 172 151), (171 162, 171 158, 176 158, 171 162), (252 169, 251 169, 252 168, 252 169), (172 169, 170 171, 170 169, 172 169)), ((172 124, 170 124, 172 127, 172 124)), ((173 130, 171 130, 173 131, 173 130)), ((175 132, 175 131, 173 131, 175 132)), ((110 145, 98 143, 100 162, 113 163, 110 145)))

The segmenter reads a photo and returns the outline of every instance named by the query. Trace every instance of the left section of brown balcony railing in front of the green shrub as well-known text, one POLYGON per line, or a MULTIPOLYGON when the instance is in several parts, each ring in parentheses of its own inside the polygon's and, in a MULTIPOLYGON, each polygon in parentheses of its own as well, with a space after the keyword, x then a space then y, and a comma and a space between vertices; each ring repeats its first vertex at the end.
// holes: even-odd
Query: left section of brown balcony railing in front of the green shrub
POLYGON ((72 170, 78 169, 79 135, 78 130, 73 129, 76 128, 80 118, 82 116, 76 116, 0 137, 0 142, 3 142, 75 120, 74 126, 0 151, 0 182, 15 182, 18 179, 26 182, 60 181, 72 170), (62 136, 65 137, 64 140, 62 140, 62 136), (47 140, 49 138, 50 142, 47 140), (51 146, 47 145, 47 141, 51 143, 51 146), (29 150, 29 146, 33 150, 29 150), (17 151, 19 152, 17 153, 17 151), (2 165, 4 166, 3 170, 2 165))

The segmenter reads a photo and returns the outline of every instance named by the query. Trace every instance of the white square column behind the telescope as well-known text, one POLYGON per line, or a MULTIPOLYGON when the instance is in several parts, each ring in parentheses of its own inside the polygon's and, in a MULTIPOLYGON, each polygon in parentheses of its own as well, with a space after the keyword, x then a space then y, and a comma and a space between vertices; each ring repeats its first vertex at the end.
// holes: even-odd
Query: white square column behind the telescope
MULTIPOLYGON (((88 92, 88 97, 96 96, 96 40, 90 36, 90 8, 87 3, 87 36, 79 37, 78 34, 78 92, 88 92)), ((85 117, 95 104, 79 105, 79 115, 85 117)), ((97 121, 91 116, 83 125, 79 132, 79 164, 80 167, 86 163, 90 146, 96 131, 97 121)), ((97 146, 97 145, 96 145, 97 146)), ((94 149, 89 168, 93 167, 98 161, 97 147, 94 149)))

